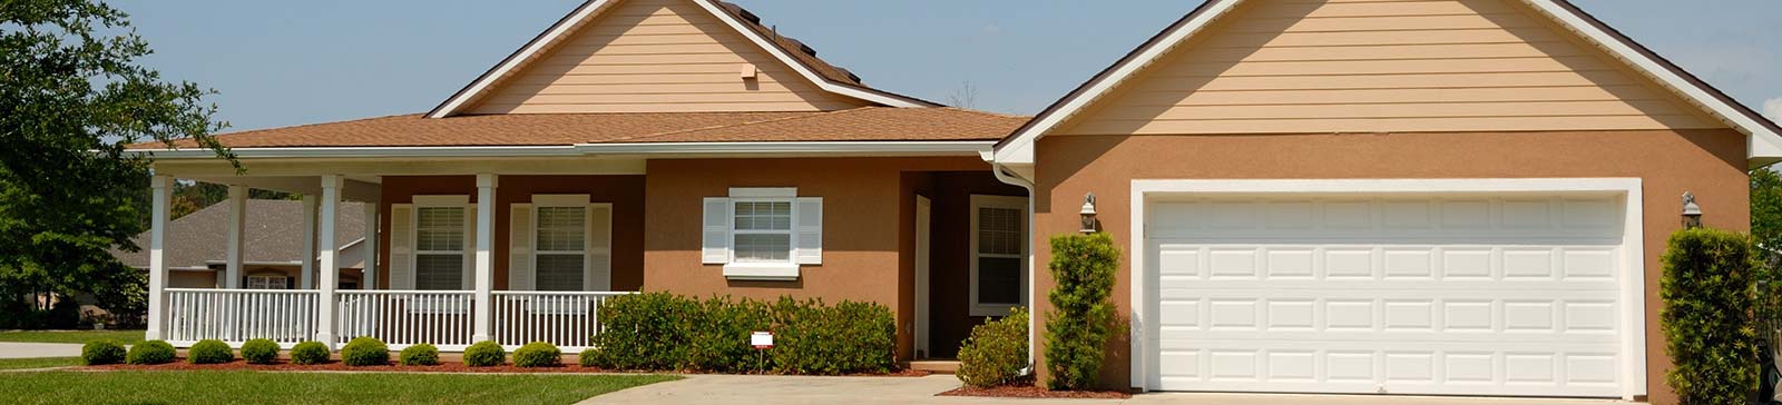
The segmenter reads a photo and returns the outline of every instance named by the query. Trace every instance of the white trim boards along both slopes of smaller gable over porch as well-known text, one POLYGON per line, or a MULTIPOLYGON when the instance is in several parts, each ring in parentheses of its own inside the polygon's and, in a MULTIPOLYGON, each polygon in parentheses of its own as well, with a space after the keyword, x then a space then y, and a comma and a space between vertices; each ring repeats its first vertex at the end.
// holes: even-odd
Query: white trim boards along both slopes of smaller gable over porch
MULTIPOLYGON (((579 28, 583 23, 590 21, 595 14, 601 14, 599 11, 606 9, 608 5, 618 4, 618 2, 624 2, 624 0, 588 0, 581 7, 576 7, 576 11, 570 11, 570 14, 565 16, 563 20, 560 20, 556 25, 551 25, 551 28, 547 28, 545 32, 538 34, 538 37, 533 37, 531 43, 526 43, 526 46, 522 46, 513 55, 510 55, 508 59, 504 59, 499 64, 495 64, 495 68, 490 68, 486 73, 483 73, 483 76, 478 76, 476 82, 470 82, 470 85, 463 87, 463 91, 458 91, 456 94, 453 94, 451 98, 447 98, 444 103, 440 103, 437 108, 433 108, 433 112, 428 112, 428 117, 435 117, 437 119, 437 117, 451 117, 453 114, 458 114, 470 99, 476 99, 478 96, 483 96, 483 92, 486 92, 495 82, 499 82, 501 78, 506 78, 510 73, 513 73, 515 69, 519 69, 520 66, 524 66, 526 62, 529 62, 531 59, 535 59, 540 52, 545 52, 547 48, 551 48, 558 41, 565 39, 565 36, 568 36, 570 32, 574 32, 576 28, 579 28)), ((713 0, 691 0, 691 2, 697 4, 700 9, 704 9, 706 12, 711 12, 711 16, 718 18, 718 21, 723 21, 725 27, 731 27, 732 30, 736 30, 743 37, 748 37, 748 41, 752 41, 756 46, 761 46, 761 50, 768 52, 770 55, 773 55, 775 59, 779 59, 782 64, 791 66, 793 71, 797 71, 805 80, 811 80, 811 83, 816 83, 816 87, 820 87, 820 89, 823 89, 827 92, 834 92, 834 94, 841 94, 841 96, 846 96, 846 98, 855 98, 855 99, 862 99, 862 101, 870 101, 870 103, 887 105, 887 107, 936 107, 932 103, 927 103, 927 101, 921 101, 921 99, 914 99, 914 98, 905 98, 905 96, 896 96, 896 94, 889 94, 889 92, 871 91, 871 89, 864 89, 864 87, 859 87, 859 85, 846 85, 846 83, 830 82, 829 78, 823 78, 822 75, 816 75, 816 71, 813 71, 804 62, 793 59, 791 55, 788 55, 786 50, 782 50, 779 44, 768 41, 766 37, 763 37, 754 28, 748 28, 745 21, 740 21, 729 11, 723 11, 722 9, 723 5, 718 5, 713 0)))

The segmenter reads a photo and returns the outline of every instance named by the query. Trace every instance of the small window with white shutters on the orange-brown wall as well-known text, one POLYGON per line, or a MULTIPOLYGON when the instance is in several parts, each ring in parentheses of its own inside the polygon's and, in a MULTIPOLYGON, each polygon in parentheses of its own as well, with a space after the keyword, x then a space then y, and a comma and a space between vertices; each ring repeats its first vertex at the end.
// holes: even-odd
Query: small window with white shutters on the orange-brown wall
POLYGON ((823 263, 823 199, 798 188, 731 188, 704 204, 702 261, 729 279, 798 279, 800 265, 823 263))

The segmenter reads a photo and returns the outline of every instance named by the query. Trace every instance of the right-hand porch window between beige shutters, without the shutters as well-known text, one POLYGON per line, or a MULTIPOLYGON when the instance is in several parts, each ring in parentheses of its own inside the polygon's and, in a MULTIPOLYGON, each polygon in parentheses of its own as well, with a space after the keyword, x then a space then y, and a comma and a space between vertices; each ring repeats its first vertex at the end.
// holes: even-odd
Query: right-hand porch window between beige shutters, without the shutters
POLYGON ((588 259, 588 206, 538 208, 538 291, 581 291, 588 259))

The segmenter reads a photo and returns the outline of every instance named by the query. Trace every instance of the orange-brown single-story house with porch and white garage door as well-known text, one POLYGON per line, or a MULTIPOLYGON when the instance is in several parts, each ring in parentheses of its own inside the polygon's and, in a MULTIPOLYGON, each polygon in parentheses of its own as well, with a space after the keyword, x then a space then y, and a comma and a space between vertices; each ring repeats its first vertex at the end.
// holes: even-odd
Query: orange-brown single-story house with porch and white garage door
MULTIPOLYGON (((1046 240, 1087 226, 1124 250, 1110 387, 1675 403, 1680 195, 1745 231, 1746 169, 1782 162, 1775 123, 1563 0, 1210 0, 1032 119, 768 27, 590 0, 429 112, 221 135, 246 174, 137 146, 151 258, 175 178, 276 188, 323 238, 378 206, 388 277, 287 297, 314 339, 576 348, 642 290, 879 302, 900 359, 944 359, 1014 306, 1037 336, 1046 240)), ((225 291, 151 274, 150 338, 208 336, 178 316, 225 291)))

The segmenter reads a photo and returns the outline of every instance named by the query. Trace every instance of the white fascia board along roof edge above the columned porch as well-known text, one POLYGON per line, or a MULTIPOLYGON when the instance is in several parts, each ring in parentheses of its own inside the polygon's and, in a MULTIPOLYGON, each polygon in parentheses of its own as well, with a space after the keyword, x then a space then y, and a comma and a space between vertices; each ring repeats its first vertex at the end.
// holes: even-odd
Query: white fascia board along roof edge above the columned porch
MULTIPOLYGON (((216 158, 201 147, 130 149, 162 160, 216 158)), ((406 146, 406 147, 239 147, 239 158, 481 158, 481 156, 581 156, 576 146, 406 146)))

